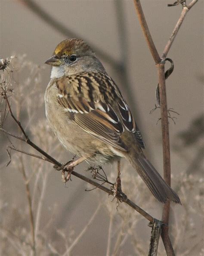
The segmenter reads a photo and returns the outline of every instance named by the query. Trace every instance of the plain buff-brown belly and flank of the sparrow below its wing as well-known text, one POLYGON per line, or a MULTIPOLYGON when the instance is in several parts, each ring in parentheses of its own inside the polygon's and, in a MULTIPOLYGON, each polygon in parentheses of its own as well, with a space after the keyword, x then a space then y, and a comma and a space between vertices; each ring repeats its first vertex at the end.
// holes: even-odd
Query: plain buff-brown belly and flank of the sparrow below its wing
POLYGON ((111 147, 83 131, 60 107, 45 103, 46 118, 55 136, 66 150, 96 163, 105 163, 116 155, 111 147))

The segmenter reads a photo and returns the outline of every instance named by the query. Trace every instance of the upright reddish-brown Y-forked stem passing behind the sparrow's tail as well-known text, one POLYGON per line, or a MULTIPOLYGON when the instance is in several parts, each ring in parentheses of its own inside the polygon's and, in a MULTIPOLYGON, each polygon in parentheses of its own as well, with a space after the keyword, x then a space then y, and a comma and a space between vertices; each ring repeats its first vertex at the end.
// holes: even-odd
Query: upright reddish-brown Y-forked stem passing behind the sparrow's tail
MULTIPOLYGON (((173 44, 174 39, 179 31, 179 28, 185 19, 187 12, 192 8, 192 6, 197 3, 198 0, 192 0, 189 5, 185 3, 185 1, 177 0, 173 5, 177 5, 179 3, 182 4, 182 13, 176 23, 175 28, 167 42, 167 45, 164 48, 164 51, 161 57, 158 54, 157 48, 152 40, 151 33, 148 29, 147 22, 145 20, 145 15, 142 10, 142 6, 140 0, 134 0, 136 13, 138 15, 138 19, 140 25, 142 27, 142 31, 145 35, 146 42, 148 44, 149 50, 151 51, 151 55, 155 61, 156 67, 158 69, 158 80, 159 80, 159 94, 161 100, 161 128, 162 128, 162 142, 163 142, 163 168, 164 168, 164 179, 167 184, 171 185, 171 170, 170 170, 170 140, 169 140, 169 126, 168 126, 168 110, 167 110, 167 95, 166 95, 166 85, 165 85, 165 71, 164 64, 167 57, 167 54, 170 50, 171 45, 173 44)), ((171 5, 171 6, 173 6, 171 5)), ((162 213, 162 221, 165 225, 162 226, 161 229, 161 237, 165 246, 165 250, 167 256, 173 256, 174 251, 170 241, 170 237, 168 234, 168 224, 169 224, 169 214, 170 214, 170 201, 168 201, 163 208, 162 213)), ((159 233, 158 233, 159 234, 159 233)))

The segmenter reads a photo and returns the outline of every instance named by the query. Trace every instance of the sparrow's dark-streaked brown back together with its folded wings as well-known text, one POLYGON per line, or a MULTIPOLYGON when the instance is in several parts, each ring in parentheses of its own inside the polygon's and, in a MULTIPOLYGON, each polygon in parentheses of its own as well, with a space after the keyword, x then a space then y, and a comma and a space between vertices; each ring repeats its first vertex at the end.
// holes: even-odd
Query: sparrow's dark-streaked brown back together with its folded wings
POLYGON ((136 134, 140 146, 143 147, 141 134, 138 133, 130 109, 108 75, 103 73, 73 75, 58 80, 57 86, 59 104, 66 111, 74 113, 73 121, 84 131, 113 147, 128 151, 120 138, 126 128, 136 134), (116 107, 118 105, 119 117, 111 107, 113 105, 116 107))

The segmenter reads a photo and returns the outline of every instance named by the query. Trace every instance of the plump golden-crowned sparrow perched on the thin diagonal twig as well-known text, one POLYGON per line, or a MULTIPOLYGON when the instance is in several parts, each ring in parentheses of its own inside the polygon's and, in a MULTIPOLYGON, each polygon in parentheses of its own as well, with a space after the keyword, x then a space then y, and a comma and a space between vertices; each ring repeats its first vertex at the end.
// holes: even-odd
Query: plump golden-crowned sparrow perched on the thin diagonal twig
POLYGON ((65 149, 95 163, 125 157, 155 198, 180 203, 142 153, 145 144, 130 108, 87 43, 66 39, 45 63, 52 66, 46 117, 65 149))

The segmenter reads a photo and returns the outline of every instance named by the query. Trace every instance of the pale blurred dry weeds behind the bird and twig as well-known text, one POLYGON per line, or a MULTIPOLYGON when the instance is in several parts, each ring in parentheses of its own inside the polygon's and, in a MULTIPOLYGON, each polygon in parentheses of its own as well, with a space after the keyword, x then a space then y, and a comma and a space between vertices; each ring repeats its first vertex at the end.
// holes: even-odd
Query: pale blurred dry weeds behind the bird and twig
MULTIPOLYGON (((28 61, 25 55, 11 59, 11 63, 5 69, 0 70, 1 130, 5 129, 21 136, 9 115, 3 96, 6 91, 12 111, 22 121, 30 138, 48 154, 60 159, 58 149, 61 149, 61 146, 50 131, 45 118, 36 114, 39 109, 44 107, 40 70, 41 68, 28 61), (25 70, 26 72, 24 72, 25 70)), ((198 129, 197 132, 200 130, 198 129)), ((10 176, 15 177, 14 184, 6 182, 5 179, 0 181, 0 255, 76 255, 74 248, 81 238, 86 236, 88 228, 93 224, 100 211, 106 211, 109 216, 109 228, 105 234, 107 240, 101 241, 104 243, 107 256, 126 255, 126 246, 130 248, 129 255, 148 254, 149 238, 142 231, 144 225, 147 224, 144 222, 144 218, 128 205, 118 204, 116 200, 112 202, 112 198, 99 189, 86 192, 96 193, 96 201, 99 203, 89 222, 84 223, 80 232, 74 231, 74 224, 73 229, 66 227, 62 230, 53 227, 53 219, 58 214, 56 202, 50 204, 46 211, 44 206, 44 202, 49 197, 46 195, 48 179, 54 172, 52 165, 36 157, 16 152, 15 149, 18 148, 18 150, 36 154, 23 141, 12 138, 3 132, 0 133, 0 136, 2 150, 8 150, 7 160, 1 163, 1 173, 9 172, 10 176), (24 186, 25 189, 16 189, 16 191, 12 189, 15 193, 19 193, 19 200, 13 201, 9 187, 18 187, 18 184, 24 186), (51 236, 50 234, 55 228, 56 233, 51 236)), ((184 150, 182 136, 180 136, 180 141, 180 144, 175 145, 177 152, 184 150)), ((190 146, 199 149, 200 140, 190 146)), ((189 159, 189 161, 193 161, 193 159, 189 159)), ((200 163, 196 168, 201 168, 200 163)), ((155 201, 153 196, 150 196, 148 190, 145 189, 145 184, 138 179, 135 172, 127 169, 130 169, 130 166, 123 166, 122 184, 125 194, 134 198, 134 202, 141 205, 146 211, 152 209, 155 211, 155 205, 157 205, 158 211, 155 212, 155 216, 159 216, 161 205, 155 201)), ((114 181, 114 173, 106 174, 109 180, 114 181)), ((170 236, 175 253, 177 256, 203 255, 201 222, 204 214, 204 191, 201 172, 194 171, 192 174, 186 174, 185 171, 179 171, 173 177, 173 184, 182 201, 182 207, 171 206, 173 218, 170 236)), ((54 186, 53 190, 55 190, 54 186)), ((65 189, 65 193, 69 193, 69 190, 65 189)), ((92 246, 91 241, 90 246, 92 246)), ((160 247, 158 255, 165 255, 161 244, 160 247)), ((83 250, 81 255, 83 255, 83 250)))

